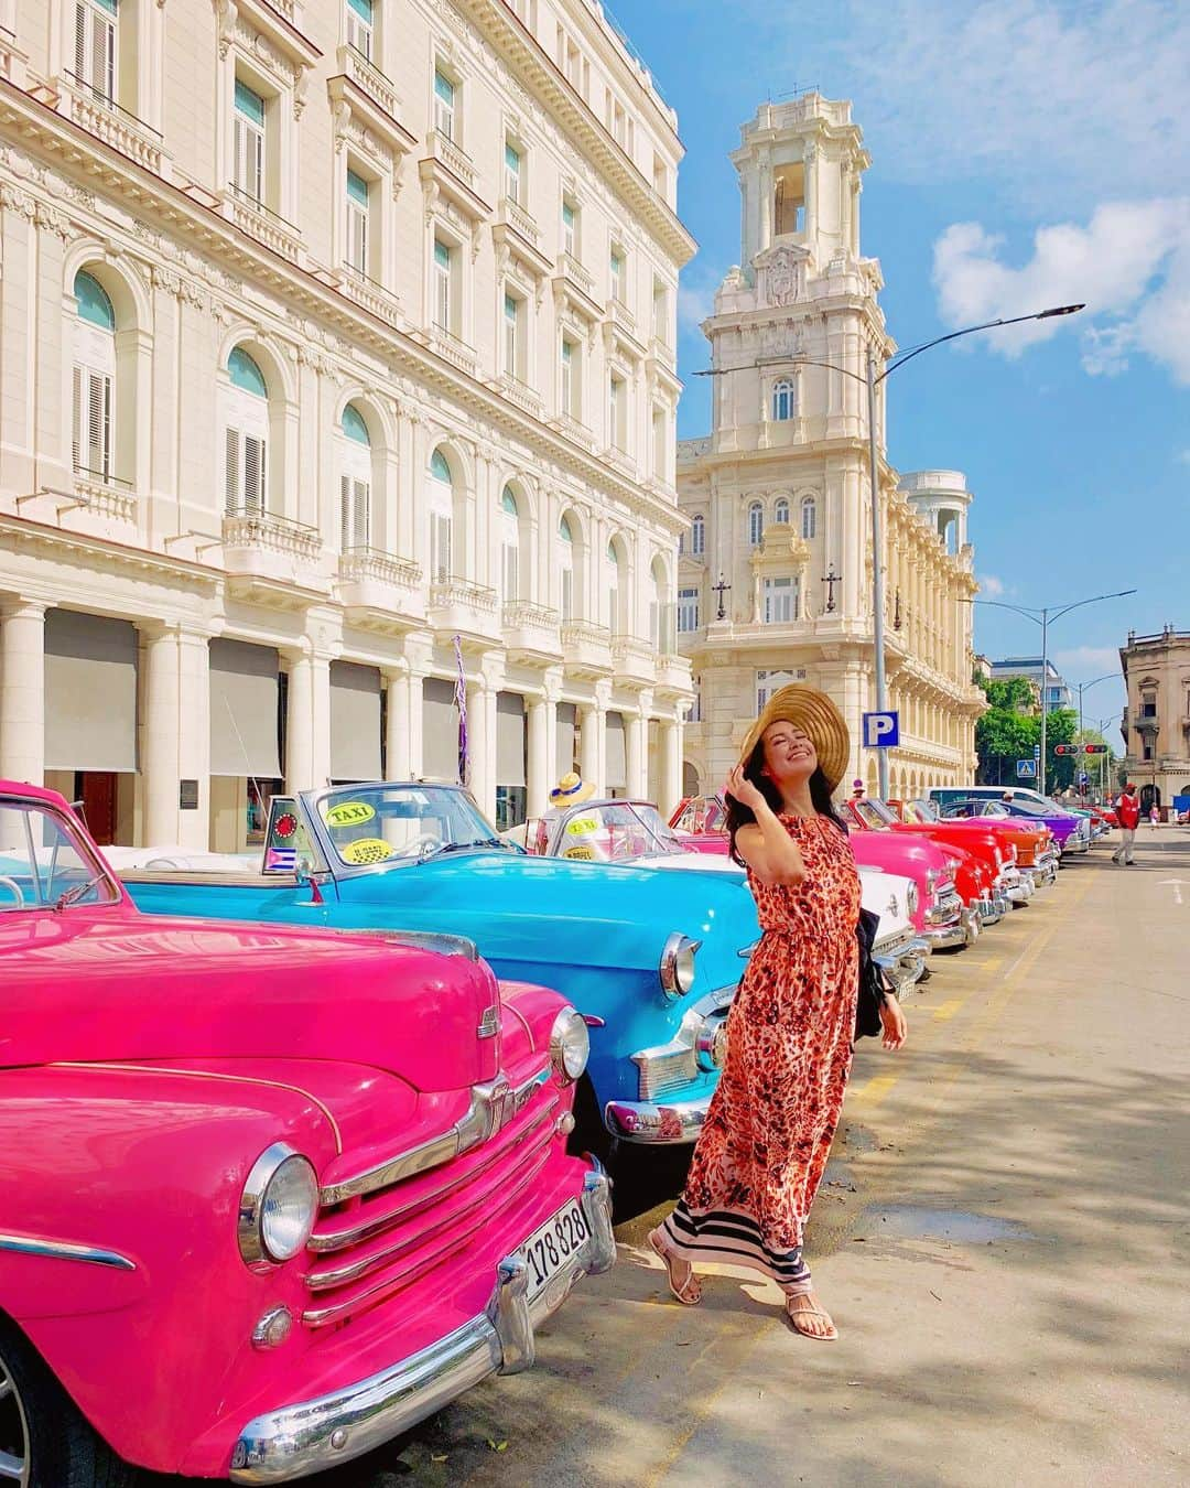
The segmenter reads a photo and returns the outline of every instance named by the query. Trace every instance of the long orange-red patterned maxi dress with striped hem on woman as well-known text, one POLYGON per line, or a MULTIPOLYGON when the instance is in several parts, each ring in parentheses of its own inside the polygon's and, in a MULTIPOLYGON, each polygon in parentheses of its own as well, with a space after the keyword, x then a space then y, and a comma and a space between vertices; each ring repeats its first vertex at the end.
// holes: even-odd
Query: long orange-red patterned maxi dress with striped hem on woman
POLYGON ((809 1290, 802 1234, 843 1104, 855 1033, 860 876, 829 817, 782 815, 806 876, 748 873, 765 931, 727 1021, 727 1058, 665 1240, 692 1263, 809 1290))

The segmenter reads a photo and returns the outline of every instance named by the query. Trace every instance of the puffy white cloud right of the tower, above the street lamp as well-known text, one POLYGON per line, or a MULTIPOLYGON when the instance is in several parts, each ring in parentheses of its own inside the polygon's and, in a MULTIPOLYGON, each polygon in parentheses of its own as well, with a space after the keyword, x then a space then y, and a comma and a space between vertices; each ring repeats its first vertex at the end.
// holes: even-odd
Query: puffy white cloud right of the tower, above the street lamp
POLYGON ((1006 262, 1001 237, 976 222, 953 223, 934 244, 934 284, 951 326, 1086 302, 1077 321, 991 332, 1004 356, 1078 324, 1087 372, 1122 372, 1129 354, 1141 353, 1190 384, 1190 196, 1105 202, 1086 226, 1038 228, 1032 256, 1019 266, 1006 262))

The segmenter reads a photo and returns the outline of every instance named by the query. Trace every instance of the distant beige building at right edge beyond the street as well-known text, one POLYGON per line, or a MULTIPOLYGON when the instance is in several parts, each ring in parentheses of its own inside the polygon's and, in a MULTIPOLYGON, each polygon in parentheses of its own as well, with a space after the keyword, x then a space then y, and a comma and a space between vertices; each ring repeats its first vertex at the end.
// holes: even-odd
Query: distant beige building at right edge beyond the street
POLYGON ((1129 631, 1120 665, 1128 687, 1123 769, 1141 787, 1145 811, 1154 799, 1168 808, 1174 796, 1190 796, 1190 631, 1129 631))

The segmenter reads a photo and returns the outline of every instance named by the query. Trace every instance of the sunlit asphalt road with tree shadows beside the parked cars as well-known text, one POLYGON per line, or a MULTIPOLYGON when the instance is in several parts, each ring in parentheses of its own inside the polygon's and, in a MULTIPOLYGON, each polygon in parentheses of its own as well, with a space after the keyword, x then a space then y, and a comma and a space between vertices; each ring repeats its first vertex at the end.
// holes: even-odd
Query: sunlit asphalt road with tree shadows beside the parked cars
POLYGON ((534 1370, 311 1488, 1190 1481, 1190 830, 1138 844, 936 957, 900 1055, 863 1046, 808 1240, 837 1344, 744 1274, 669 1302, 671 1161, 534 1370))

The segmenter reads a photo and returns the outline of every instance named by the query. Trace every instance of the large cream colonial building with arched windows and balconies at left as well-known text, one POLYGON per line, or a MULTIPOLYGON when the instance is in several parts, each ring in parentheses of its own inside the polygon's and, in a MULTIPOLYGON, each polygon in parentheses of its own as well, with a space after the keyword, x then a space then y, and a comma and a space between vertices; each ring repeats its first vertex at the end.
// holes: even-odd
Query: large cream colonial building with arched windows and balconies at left
POLYGON ((0 775, 672 802, 680 158, 592 0, 0 0, 0 775))

